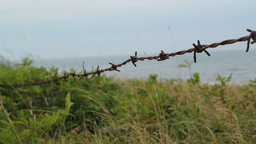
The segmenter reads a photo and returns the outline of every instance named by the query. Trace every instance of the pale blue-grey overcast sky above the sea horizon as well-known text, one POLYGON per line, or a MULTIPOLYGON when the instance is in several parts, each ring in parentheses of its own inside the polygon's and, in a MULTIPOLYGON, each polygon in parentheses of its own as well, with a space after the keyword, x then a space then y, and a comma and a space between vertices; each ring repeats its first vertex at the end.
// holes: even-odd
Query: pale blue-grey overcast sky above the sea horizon
MULTIPOLYGON (((198 39, 211 44, 249 35, 246 29, 256 30, 255 6, 256 0, 1 0, 0 55, 170 53, 192 48, 198 39)), ((214 50, 245 50, 246 44, 214 50)))

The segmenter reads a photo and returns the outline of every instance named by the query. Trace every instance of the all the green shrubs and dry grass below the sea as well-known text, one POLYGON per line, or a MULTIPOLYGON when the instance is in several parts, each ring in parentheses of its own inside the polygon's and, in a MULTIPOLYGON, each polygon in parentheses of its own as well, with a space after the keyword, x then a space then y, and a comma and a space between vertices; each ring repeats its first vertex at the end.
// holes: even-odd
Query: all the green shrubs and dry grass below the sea
MULTIPOLYGON (((56 68, 2 60, 0 84, 46 80, 56 68)), ((190 68, 189 63, 180 67, 190 68), (187 65, 186 65, 187 64, 187 65)), ((72 72, 72 70, 70 70, 72 72)), ((93 79, 0 87, 0 143, 253 144, 256 79, 244 86, 189 80, 93 79)))

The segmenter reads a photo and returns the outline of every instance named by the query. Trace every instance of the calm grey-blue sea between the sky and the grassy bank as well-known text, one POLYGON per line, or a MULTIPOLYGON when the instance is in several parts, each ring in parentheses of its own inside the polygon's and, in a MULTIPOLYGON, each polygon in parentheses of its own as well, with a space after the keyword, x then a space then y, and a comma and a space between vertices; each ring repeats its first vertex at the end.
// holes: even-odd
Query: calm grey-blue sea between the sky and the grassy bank
MULTIPOLYGON (((192 63, 191 71, 199 72, 200 81, 214 84, 216 82, 217 74, 221 76, 232 75, 232 82, 237 84, 246 84, 248 80, 256 78, 256 50, 250 48, 248 53, 245 50, 234 51, 216 51, 209 50, 211 56, 206 54, 197 54, 197 63, 192 63)), ((147 55, 155 56, 157 54, 147 55)), ((138 55, 145 56, 145 55, 138 55)), ((44 66, 50 68, 52 66, 58 67, 59 72, 64 70, 69 71, 74 68, 76 72, 82 71, 82 63, 84 61, 84 68, 86 71, 92 68, 100 69, 108 68, 114 64, 120 64, 129 59, 130 55, 126 56, 111 56, 98 58, 63 58, 63 59, 49 59, 49 60, 34 60, 34 66, 44 66)), ((104 72, 107 76, 115 76, 115 78, 148 78, 149 74, 158 74, 158 78, 190 78, 188 68, 178 68, 179 64, 185 64, 184 60, 188 62, 193 61, 193 53, 170 57, 168 60, 144 60, 136 62, 137 67, 130 62, 120 68, 121 72, 111 71, 104 72)))

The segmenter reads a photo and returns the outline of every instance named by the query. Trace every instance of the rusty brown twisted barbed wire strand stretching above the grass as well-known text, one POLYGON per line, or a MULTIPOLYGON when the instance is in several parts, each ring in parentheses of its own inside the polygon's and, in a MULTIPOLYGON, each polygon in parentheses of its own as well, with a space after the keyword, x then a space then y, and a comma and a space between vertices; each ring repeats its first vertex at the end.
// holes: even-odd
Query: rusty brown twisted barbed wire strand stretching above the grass
POLYGON ((112 71, 112 70, 116 70, 118 72, 120 72, 120 70, 118 70, 118 67, 121 67, 125 64, 127 64, 128 62, 132 62, 132 64, 134 64, 134 66, 136 67, 137 65, 135 64, 138 60, 143 61, 143 60, 157 60, 157 61, 162 61, 162 60, 166 60, 169 59, 170 56, 176 56, 176 55, 182 55, 182 54, 186 54, 186 53, 191 53, 194 52, 194 62, 196 63, 196 53, 202 53, 205 52, 208 56, 210 56, 210 53, 206 50, 207 48, 216 48, 217 46, 220 45, 226 45, 226 44, 234 44, 236 42, 243 42, 243 41, 248 41, 247 42, 247 48, 246 48, 246 52, 249 51, 249 47, 250 44, 254 44, 256 42, 256 31, 247 29, 248 32, 250 32, 249 36, 244 36, 238 39, 229 39, 229 40, 224 40, 222 42, 216 42, 213 44, 200 44, 200 41, 197 41, 197 45, 196 44, 192 44, 194 46, 194 48, 190 48, 188 50, 181 50, 178 52, 173 52, 173 53, 164 53, 163 50, 161 50, 161 53, 158 56, 144 56, 144 57, 137 57, 137 52, 135 52, 134 56, 130 56, 130 59, 122 62, 121 64, 112 64, 109 62, 109 64, 111 64, 110 68, 106 68, 106 69, 99 69, 100 66, 98 66, 97 70, 94 72, 88 72, 86 73, 86 70, 84 70, 83 74, 76 74, 75 70, 72 73, 66 74, 66 72, 64 73, 64 76, 60 76, 57 78, 52 77, 51 80, 49 80, 49 78, 47 78, 47 80, 43 80, 43 81, 38 81, 38 82, 28 82, 26 84, 12 84, 12 85, 4 85, 4 84, 0 84, 0 86, 2 87, 22 87, 22 86, 33 86, 33 85, 40 85, 40 84, 46 84, 46 83, 50 83, 50 82, 57 82, 60 80, 66 80, 66 78, 72 76, 74 78, 74 80, 76 80, 76 77, 79 77, 79 80, 81 80, 82 78, 86 77, 86 80, 88 79, 89 75, 92 75, 91 78, 93 78, 96 74, 98 74, 98 77, 100 76, 101 73, 106 72, 106 71, 112 71), (250 39, 252 39, 253 41, 250 42, 250 39))

